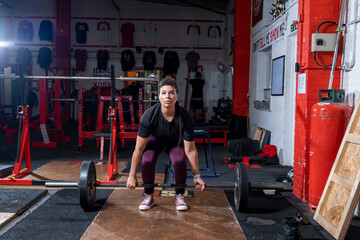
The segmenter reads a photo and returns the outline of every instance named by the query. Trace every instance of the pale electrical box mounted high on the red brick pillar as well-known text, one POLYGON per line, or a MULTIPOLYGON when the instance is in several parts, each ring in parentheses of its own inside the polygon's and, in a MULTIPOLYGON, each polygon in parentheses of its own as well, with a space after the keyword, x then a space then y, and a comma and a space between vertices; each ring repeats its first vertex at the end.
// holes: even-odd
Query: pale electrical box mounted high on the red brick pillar
POLYGON ((336 33, 313 33, 311 37, 312 52, 333 52, 336 33))

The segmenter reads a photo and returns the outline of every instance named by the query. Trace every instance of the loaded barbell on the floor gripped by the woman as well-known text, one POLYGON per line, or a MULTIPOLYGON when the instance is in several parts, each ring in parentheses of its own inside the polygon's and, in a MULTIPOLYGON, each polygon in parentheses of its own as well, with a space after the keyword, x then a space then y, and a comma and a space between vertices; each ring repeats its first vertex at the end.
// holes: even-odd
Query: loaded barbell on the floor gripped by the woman
MULTIPOLYGON (((96 168, 92 161, 84 161, 80 167, 79 181, 54 181, 54 180, 30 180, 10 179, 1 180, 0 185, 36 185, 47 188, 78 188, 80 205, 84 211, 92 211, 95 208, 96 188, 126 187, 125 182, 101 183, 96 178, 96 168)), ((194 184, 137 184, 137 187, 161 187, 161 188, 196 188, 194 184)), ((284 182, 249 182, 248 171, 245 163, 236 164, 234 184, 205 185, 205 189, 233 189, 234 202, 237 211, 244 211, 248 204, 249 191, 251 189, 275 189, 279 191, 292 191, 292 186, 284 182)))

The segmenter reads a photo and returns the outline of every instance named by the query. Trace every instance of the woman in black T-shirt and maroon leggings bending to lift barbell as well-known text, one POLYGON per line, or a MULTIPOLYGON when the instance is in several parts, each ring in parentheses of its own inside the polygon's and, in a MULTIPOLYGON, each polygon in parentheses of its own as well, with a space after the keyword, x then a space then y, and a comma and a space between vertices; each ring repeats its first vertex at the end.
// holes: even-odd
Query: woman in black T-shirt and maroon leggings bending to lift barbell
MULTIPOLYGON (((175 183, 186 183, 186 159, 188 159, 194 183, 198 184, 198 189, 204 190, 205 183, 200 176, 198 153, 194 141, 194 121, 177 102, 178 89, 173 79, 163 79, 159 87, 160 104, 146 110, 140 120, 127 187, 129 189, 136 187, 136 172, 140 160, 143 182, 153 184, 156 160, 159 154, 165 151, 174 167, 175 183)), ((149 210, 154 205, 154 187, 145 187, 144 192, 145 199, 139 209, 149 210)), ((184 188, 175 189, 175 205, 179 211, 188 210, 183 196, 184 192, 184 188)))

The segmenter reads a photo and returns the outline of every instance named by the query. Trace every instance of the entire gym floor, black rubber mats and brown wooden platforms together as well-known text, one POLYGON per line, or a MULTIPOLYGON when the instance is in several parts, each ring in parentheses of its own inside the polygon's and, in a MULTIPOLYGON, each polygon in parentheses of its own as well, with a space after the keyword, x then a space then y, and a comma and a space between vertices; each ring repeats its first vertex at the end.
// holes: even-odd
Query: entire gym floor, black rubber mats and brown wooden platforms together
MULTIPOLYGON (((71 136, 70 142, 59 143, 57 148, 31 148, 32 177, 53 179, 52 176, 56 175, 58 178, 76 178, 78 175, 66 167, 74 168, 84 160, 102 165, 94 140, 86 140, 85 151, 77 153, 76 125, 68 124, 64 129, 65 134, 71 136)), ((16 142, 16 134, 13 138, 16 142)), ((41 140, 41 136, 31 130, 30 140, 41 140)), ((8 144, 4 132, 1 132, 0 147, 0 173, 4 177, 9 174, 9 165, 14 165, 16 144, 8 144)), ((205 168, 204 147, 202 144, 197 144, 197 147, 200 168, 205 168)), ((108 144, 105 149, 108 149, 108 144)), ((125 148, 118 145, 120 181, 126 180, 133 149, 134 142, 127 142, 125 148)), ((205 182, 209 185, 233 184, 235 169, 224 162, 224 157, 229 156, 226 148, 213 144, 212 150, 217 177, 204 178, 205 182)), ((107 153, 105 150, 105 162, 108 161, 107 153)), ((167 170, 168 161, 165 154, 160 155, 156 164, 159 182, 174 182, 167 170)), ((212 170, 211 162, 209 168, 212 170)), ((268 165, 248 170, 250 181, 271 182, 286 177, 290 169, 268 165)), ((98 178, 103 175, 99 172, 98 178)), ((192 183, 191 178, 188 183, 192 183)), ((273 195, 266 195, 262 190, 251 190, 244 212, 235 210, 233 192, 224 192, 189 190, 186 199, 190 210, 179 213, 175 210, 172 197, 157 197, 154 208, 140 212, 136 209, 142 200, 141 190, 98 189, 97 210, 84 212, 77 189, 9 189, 0 186, 0 239, 120 239, 111 229, 121 220, 123 226, 116 227, 116 230, 126 232, 128 239, 186 239, 189 236, 192 239, 295 239, 289 237, 291 229, 283 223, 283 219, 297 215, 303 219, 297 228, 302 239, 333 239, 312 219, 313 213, 308 211, 307 204, 291 192, 276 191, 273 195)), ((360 219, 354 217, 346 239, 359 239, 359 234, 360 219)))

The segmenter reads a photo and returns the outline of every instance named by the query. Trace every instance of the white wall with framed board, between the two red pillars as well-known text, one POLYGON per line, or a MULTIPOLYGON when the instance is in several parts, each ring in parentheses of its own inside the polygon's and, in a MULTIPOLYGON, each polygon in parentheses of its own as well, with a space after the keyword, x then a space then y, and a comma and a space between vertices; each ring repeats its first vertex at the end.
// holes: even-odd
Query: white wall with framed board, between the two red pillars
MULTIPOLYGON (((289 1, 284 14, 272 20, 269 12, 273 1, 264 0, 263 19, 251 30, 251 64, 250 64, 250 101, 249 101, 249 136, 253 136, 256 127, 271 131, 270 144, 278 149, 280 163, 293 165, 293 137, 295 119, 295 73, 296 61, 296 32, 290 32, 293 21, 297 20, 298 6, 296 1, 289 1), (269 31, 283 24, 284 36, 260 47, 258 41, 269 31), (295 38, 294 38, 295 35, 295 38), (294 41, 295 39, 295 41, 294 41), (254 46, 256 45, 256 48, 254 46), (270 110, 258 110, 254 101, 263 101, 266 77, 266 55, 271 54, 271 59, 285 56, 284 94, 270 97, 270 110)), ((271 66, 271 65, 270 65, 271 66)), ((271 76, 271 75, 270 75, 271 76)), ((271 82, 270 82, 271 83, 271 82)))

